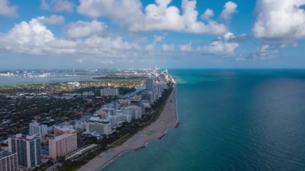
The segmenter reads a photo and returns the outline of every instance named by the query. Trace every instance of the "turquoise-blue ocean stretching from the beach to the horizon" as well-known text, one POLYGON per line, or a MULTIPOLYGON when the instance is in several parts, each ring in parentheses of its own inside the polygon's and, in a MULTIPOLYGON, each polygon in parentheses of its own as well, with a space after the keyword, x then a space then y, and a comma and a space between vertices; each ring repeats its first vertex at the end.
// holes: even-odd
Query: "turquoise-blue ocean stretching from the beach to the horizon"
POLYGON ((169 71, 179 127, 104 170, 305 169, 305 70, 169 71))

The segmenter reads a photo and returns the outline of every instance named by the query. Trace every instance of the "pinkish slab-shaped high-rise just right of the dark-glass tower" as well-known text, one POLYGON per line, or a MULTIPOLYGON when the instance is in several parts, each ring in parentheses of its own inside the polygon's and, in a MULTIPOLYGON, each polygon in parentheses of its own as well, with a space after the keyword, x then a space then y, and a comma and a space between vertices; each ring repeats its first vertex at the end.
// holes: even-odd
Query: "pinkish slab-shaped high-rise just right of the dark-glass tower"
POLYGON ((67 130, 64 134, 49 139, 49 155, 56 159, 77 149, 77 133, 67 130))

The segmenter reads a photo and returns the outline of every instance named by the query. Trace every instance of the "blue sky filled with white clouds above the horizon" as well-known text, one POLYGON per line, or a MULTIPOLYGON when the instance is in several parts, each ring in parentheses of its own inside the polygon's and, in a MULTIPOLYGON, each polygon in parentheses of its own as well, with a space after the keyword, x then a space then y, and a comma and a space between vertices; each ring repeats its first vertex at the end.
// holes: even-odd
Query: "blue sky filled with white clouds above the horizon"
POLYGON ((0 69, 303 68, 305 0, 0 0, 0 69))

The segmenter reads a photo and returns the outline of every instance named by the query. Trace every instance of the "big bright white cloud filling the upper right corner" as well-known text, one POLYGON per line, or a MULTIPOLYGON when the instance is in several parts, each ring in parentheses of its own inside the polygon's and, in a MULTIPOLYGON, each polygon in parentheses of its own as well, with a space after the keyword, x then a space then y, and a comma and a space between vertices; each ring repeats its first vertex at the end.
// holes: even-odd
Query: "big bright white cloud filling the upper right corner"
POLYGON ((305 0, 257 0, 254 35, 277 42, 305 38, 302 5, 305 0))

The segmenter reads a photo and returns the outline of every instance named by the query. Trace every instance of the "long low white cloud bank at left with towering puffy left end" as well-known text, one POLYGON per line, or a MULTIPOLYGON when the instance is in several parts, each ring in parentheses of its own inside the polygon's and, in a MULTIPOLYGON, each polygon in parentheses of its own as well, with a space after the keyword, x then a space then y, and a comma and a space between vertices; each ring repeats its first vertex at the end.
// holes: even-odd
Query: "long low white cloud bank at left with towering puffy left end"
POLYGON ((58 38, 39 18, 22 21, 1 34, 0 49, 34 55, 73 55, 113 60, 126 57, 126 50, 139 49, 136 43, 126 42, 119 36, 101 37, 94 34, 85 39, 58 38))

